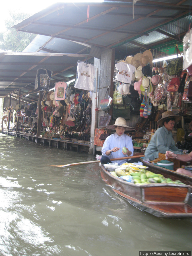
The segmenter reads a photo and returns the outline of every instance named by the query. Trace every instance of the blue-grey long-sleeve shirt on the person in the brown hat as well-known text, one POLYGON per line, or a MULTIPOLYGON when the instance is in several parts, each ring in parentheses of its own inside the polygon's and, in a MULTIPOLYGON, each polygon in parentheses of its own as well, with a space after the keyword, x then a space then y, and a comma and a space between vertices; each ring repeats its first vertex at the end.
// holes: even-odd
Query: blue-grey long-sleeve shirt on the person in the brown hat
POLYGON ((159 157, 159 153, 165 154, 167 150, 181 155, 182 152, 176 147, 172 132, 168 131, 165 126, 160 127, 154 133, 150 143, 145 150, 145 158, 150 161, 159 157))

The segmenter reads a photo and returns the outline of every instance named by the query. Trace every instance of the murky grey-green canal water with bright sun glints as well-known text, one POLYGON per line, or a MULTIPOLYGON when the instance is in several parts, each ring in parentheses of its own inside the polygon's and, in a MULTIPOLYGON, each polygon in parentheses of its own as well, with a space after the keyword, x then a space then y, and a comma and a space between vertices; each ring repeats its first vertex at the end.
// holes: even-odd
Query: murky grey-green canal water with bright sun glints
POLYGON ((0 255, 137 256, 190 251, 192 220, 162 219, 116 195, 91 155, 0 134, 0 255))

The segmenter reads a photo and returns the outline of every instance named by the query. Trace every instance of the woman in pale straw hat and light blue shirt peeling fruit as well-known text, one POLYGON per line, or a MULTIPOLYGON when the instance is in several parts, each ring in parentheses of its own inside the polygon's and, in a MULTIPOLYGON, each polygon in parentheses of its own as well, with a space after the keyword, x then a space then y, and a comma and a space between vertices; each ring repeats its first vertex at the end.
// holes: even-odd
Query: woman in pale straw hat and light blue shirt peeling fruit
MULTIPOLYGON (((126 121, 123 117, 118 117, 115 120, 114 125, 107 125, 108 129, 115 130, 115 133, 108 136, 105 140, 102 147, 102 158, 101 163, 107 164, 112 163, 111 158, 120 158, 125 156, 133 156, 133 143, 131 137, 124 134, 126 130, 134 130, 126 125, 126 121), (122 151, 122 148, 125 147, 127 149, 126 152, 122 151)), ((139 158, 138 158, 139 159, 139 158)), ((119 165, 126 162, 128 159, 124 160, 115 160, 113 162, 117 162, 119 165)), ((132 160, 132 159, 131 159, 132 160)), ((137 162, 137 159, 134 159, 134 162, 137 162)))

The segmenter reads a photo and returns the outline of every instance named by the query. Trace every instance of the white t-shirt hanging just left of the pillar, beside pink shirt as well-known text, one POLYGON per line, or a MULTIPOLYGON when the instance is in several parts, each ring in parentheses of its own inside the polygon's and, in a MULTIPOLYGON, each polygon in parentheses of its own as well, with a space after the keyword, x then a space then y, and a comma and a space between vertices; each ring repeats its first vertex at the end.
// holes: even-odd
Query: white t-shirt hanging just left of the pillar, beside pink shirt
POLYGON ((92 64, 79 62, 77 64, 78 77, 75 82, 74 88, 81 90, 93 91, 94 90, 94 74, 95 67, 92 64))

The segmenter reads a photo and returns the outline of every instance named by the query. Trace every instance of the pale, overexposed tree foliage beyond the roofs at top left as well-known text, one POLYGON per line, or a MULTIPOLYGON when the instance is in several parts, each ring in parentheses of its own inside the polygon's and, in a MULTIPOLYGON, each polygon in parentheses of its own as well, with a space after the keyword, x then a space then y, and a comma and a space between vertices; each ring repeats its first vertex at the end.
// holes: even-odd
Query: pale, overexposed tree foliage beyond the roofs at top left
POLYGON ((5 20, 6 30, 0 33, 0 49, 3 51, 23 51, 36 37, 35 34, 16 31, 12 26, 20 23, 30 15, 10 11, 10 16, 5 20))

